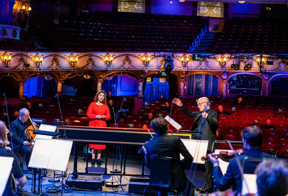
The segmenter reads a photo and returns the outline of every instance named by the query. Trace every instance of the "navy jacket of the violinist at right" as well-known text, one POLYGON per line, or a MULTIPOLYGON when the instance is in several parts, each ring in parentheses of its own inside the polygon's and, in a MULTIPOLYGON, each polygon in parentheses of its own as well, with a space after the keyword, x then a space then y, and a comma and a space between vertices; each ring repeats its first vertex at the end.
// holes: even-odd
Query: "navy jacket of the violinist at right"
MULTIPOLYGON (((272 156, 270 154, 264 153, 261 148, 250 148, 249 150, 247 150, 245 154, 242 154, 239 156, 241 163, 244 157, 267 157, 267 158, 270 157, 271 158, 272 156)), ((251 162, 248 162, 247 167, 245 166, 245 168, 248 168, 248 170, 246 170, 245 173, 253 174, 256 166, 257 166, 256 162, 254 162, 254 164, 251 162)), ((236 190, 237 193, 241 193, 242 178, 241 178, 241 173, 238 168, 235 157, 229 160, 229 165, 228 165, 226 174, 224 176, 219 166, 213 167, 212 174, 215 179, 215 184, 220 191, 227 190, 229 189, 231 185, 233 185, 232 189, 236 190)))

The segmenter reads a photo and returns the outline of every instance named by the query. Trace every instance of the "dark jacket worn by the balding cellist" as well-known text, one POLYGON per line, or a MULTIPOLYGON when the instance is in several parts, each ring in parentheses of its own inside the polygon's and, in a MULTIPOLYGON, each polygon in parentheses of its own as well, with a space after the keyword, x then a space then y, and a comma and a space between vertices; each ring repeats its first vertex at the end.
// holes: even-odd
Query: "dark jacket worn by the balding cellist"
MULTIPOLYGON (((13 142, 13 149, 14 153, 18 154, 19 147, 23 145, 24 141, 27 141, 27 137, 25 135, 25 129, 29 127, 29 122, 22 122, 19 118, 11 122, 10 124, 10 132, 13 133, 12 135, 12 142, 13 142)), ((10 145, 12 149, 12 145, 10 145)))

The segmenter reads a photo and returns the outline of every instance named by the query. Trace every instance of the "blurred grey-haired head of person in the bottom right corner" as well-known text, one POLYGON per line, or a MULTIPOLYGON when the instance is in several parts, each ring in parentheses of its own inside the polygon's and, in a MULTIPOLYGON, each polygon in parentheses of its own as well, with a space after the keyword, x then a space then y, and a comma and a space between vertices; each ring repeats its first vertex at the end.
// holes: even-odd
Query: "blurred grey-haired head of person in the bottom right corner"
POLYGON ((288 163, 283 159, 267 159, 257 165, 257 195, 288 195, 288 163))

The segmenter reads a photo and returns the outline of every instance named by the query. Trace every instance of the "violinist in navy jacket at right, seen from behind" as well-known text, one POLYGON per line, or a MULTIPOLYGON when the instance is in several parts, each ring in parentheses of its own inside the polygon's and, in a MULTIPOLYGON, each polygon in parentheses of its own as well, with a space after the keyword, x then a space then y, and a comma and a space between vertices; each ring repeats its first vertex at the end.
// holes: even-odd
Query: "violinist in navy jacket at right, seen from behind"
MULTIPOLYGON (((244 157, 272 157, 270 154, 262 152, 262 142, 263 135, 262 131, 257 126, 245 127, 241 133, 243 147, 246 150, 245 154, 239 156, 240 162, 243 161, 244 157)), ((213 164, 212 174, 215 179, 215 184, 220 191, 229 189, 232 185, 232 189, 237 193, 241 193, 242 189, 242 178, 241 173, 236 163, 236 158, 229 160, 229 165, 226 174, 223 176, 222 171, 219 167, 219 161, 217 158, 213 157, 214 153, 208 154, 210 161, 213 164)), ((253 163, 248 163, 249 167, 246 173, 253 174, 256 165, 253 163)), ((248 165, 247 164, 247 165, 248 165)))

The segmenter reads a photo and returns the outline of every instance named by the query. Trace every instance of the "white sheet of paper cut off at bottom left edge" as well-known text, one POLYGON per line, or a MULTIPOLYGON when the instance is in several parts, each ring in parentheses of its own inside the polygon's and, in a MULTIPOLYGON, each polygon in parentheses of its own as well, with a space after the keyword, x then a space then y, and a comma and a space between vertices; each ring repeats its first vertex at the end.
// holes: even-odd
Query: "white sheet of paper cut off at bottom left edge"
POLYGON ((13 164, 13 157, 0 157, 0 195, 3 195, 13 164))

